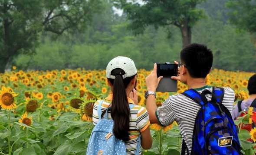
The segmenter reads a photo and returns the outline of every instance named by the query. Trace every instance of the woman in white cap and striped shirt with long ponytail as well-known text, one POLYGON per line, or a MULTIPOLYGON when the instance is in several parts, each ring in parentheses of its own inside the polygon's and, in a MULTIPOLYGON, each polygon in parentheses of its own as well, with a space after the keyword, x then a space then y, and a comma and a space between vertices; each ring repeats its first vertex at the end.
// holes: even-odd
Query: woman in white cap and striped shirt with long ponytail
MULTIPOLYGON (((112 93, 102 103, 102 116, 98 116, 98 101, 93 108, 92 121, 98 123, 98 117, 103 117, 108 107, 108 119, 114 120, 113 133, 117 139, 125 142, 127 155, 135 155, 138 139, 141 137, 143 149, 150 149, 152 138, 149 130, 148 111, 138 104, 136 86, 137 69, 128 57, 115 57, 107 66, 108 85, 112 93), (129 97, 128 97, 129 96, 129 97), (131 110, 129 104, 136 104, 131 110)), ((139 153, 141 155, 141 151, 139 153)))

